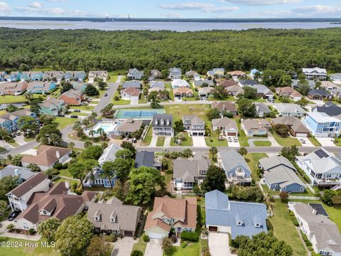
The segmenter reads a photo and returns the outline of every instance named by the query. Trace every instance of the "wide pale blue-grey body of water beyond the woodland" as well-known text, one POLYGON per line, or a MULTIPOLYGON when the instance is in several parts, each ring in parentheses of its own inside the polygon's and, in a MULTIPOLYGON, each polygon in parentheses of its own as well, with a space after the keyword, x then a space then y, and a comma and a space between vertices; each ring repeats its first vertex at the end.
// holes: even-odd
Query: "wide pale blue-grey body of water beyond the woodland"
POLYGON ((331 21, 250 21, 250 22, 209 22, 209 21, 63 21, 63 20, 1 20, 0 27, 7 28, 49 28, 49 29, 99 29, 103 31, 124 30, 169 30, 169 31, 205 31, 205 30, 244 30, 249 28, 340 28, 341 23, 331 21))

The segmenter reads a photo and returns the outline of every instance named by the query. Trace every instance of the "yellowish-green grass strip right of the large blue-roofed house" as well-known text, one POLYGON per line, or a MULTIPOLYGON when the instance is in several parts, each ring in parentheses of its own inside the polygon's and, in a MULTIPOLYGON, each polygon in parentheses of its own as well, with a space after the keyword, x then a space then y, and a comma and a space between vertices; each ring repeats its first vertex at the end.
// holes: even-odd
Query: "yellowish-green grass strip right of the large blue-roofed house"
POLYGON ((274 227, 274 236, 279 240, 285 241, 293 248, 293 255, 306 255, 303 244, 296 231, 293 221, 288 215, 288 206, 286 203, 281 203, 276 200, 274 203, 274 216, 269 218, 270 223, 274 227))

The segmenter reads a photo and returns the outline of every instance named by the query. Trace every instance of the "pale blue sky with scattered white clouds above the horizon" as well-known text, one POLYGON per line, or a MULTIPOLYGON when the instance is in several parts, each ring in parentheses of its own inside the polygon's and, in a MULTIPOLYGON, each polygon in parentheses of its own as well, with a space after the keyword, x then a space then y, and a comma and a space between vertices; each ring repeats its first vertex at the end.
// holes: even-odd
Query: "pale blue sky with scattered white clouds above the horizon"
POLYGON ((0 16, 340 18, 341 0, 0 0, 0 16))

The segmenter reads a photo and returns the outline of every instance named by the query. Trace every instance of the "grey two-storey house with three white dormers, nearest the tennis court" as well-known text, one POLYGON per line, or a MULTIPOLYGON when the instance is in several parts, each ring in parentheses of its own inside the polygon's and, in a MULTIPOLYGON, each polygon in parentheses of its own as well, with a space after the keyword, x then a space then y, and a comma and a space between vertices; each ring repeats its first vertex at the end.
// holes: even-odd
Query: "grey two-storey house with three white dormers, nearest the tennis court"
POLYGON ((172 114, 153 114, 152 126, 155 136, 174 136, 172 114))

